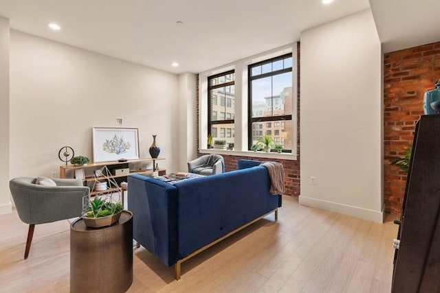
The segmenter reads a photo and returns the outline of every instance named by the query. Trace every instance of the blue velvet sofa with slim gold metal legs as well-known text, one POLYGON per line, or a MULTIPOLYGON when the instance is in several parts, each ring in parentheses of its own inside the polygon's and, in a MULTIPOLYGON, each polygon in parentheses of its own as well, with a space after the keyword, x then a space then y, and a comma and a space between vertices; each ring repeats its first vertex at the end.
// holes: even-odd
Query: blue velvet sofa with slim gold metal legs
POLYGON ((181 180, 174 185, 129 176, 133 237, 167 266, 181 263, 281 207, 261 162, 239 160, 238 170, 181 180))

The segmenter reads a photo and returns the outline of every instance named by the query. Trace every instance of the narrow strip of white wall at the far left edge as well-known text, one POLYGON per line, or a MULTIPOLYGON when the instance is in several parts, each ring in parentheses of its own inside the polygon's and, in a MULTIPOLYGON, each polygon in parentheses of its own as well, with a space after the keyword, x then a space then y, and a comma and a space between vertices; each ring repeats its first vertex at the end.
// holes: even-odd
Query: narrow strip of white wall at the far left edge
POLYGON ((10 213, 9 192, 9 20, 0 17, 0 215, 10 213))

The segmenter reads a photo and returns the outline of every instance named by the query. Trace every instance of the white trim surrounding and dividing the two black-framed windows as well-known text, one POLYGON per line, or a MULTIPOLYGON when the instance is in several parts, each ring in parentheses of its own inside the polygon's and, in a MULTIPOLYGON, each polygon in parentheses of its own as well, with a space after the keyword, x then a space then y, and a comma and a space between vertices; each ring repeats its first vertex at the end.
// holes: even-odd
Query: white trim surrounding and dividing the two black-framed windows
POLYGON ((199 152, 202 154, 230 154, 256 158, 298 159, 298 56, 297 43, 285 45, 261 54, 237 60, 228 65, 199 73, 199 152), (248 65, 292 53, 292 154, 253 152, 248 150, 248 65), (234 150, 212 150, 208 144, 208 76, 235 70, 234 150), (243 135, 244 134, 244 135, 243 135))

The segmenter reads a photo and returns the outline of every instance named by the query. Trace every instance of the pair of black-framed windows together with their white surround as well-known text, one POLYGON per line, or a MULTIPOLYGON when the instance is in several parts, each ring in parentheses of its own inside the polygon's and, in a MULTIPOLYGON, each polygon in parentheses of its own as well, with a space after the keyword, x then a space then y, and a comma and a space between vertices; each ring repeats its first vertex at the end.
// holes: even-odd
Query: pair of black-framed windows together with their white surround
POLYGON ((237 152, 252 156, 249 146, 271 130, 273 141, 278 137, 285 147, 283 154, 274 156, 298 159, 298 48, 297 43, 285 45, 199 73, 198 145, 203 148, 215 128, 212 139, 236 143, 237 152), (220 138, 220 128, 225 138, 220 138))

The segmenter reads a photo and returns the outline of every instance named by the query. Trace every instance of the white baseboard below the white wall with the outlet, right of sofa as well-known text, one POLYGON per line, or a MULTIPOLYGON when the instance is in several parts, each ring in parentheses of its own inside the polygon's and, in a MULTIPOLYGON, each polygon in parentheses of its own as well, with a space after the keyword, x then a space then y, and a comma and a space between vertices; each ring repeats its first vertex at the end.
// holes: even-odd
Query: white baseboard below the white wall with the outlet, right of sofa
POLYGON ((326 200, 317 200, 316 198, 307 198, 305 196, 298 196, 298 202, 299 204, 307 207, 316 207, 317 209, 325 209, 326 211, 343 213, 344 215, 351 215, 355 218, 361 218, 377 223, 384 222, 385 205, 382 208, 382 211, 374 211, 372 209, 362 209, 360 207, 353 207, 347 204, 328 202, 326 200))

